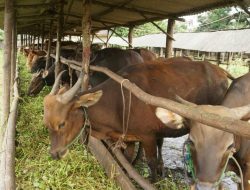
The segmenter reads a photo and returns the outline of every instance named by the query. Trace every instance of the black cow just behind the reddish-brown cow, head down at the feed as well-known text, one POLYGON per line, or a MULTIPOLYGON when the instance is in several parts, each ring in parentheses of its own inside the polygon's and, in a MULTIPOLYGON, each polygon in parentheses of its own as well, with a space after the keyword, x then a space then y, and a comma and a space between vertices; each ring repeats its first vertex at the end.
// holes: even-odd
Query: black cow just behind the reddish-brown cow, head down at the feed
MULTIPOLYGON (((62 56, 65 58, 70 58, 73 53, 62 51, 62 56)), ((51 58, 51 61, 54 60, 51 58)), ((143 63, 142 58, 139 54, 132 52, 130 50, 122 50, 117 48, 107 48, 103 50, 96 51, 92 54, 90 65, 98 65, 107 67, 113 72, 119 71, 121 68, 131 65, 131 64, 141 64, 143 63)), ((40 57, 37 61, 33 64, 31 71, 36 71, 37 73, 32 76, 28 92, 29 96, 37 95, 45 85, 51 86, 54 84, 54 69, 49 68, 48 71, 44 71, 41 69, 45 68, 46 58, 40 57), (41 70, 41 71, 40 71, 41 70)), ((53 63, 51 63, 53 65, 53 63)), ((64 74, 65 76, 65 74, 64 74)), ((67 75, 68 76, 68 75, 67 75)), ((94 72, 90 77, 90 84, 91 86, 96 86, 103 81, 105 81, 108 77, 106 75, 94 72)), ((64 77, 64 83, 67 83, 68 77, 64 77)), ((73 72, 73 81, 76 81, 76 74, 73 72)))

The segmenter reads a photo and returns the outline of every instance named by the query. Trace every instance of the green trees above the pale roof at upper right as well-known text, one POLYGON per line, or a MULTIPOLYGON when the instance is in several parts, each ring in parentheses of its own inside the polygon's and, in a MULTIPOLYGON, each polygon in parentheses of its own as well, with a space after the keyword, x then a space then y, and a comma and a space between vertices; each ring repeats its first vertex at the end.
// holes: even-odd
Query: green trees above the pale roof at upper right
POLYGON ((249 16, 244 12, 232 14, 231 8, 215 9, 205 15, 198 15, 200 25, 197 31, 239 29, 250 27, 249 16))

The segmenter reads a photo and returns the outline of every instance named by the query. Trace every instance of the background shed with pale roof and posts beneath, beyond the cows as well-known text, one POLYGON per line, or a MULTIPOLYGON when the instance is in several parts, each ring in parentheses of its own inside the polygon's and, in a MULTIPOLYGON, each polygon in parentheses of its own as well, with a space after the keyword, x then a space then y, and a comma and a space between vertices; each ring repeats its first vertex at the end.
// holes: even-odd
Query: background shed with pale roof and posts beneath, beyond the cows
MULTIPOLYGON (((201 59, 204 55, 203 59, 213 60, 212 57, 217 59, 216 55, 221 54, 221 61, 224 62, 236 54, 248 59, 250 54, 250 29, 175 33, 173 38, 172 55, 175 56, 186 55, 201 59)), ((124 41, 113 37, 110 38, 109 44, 127 46, 124 41)), ((164 56, 166 36, 159 33, 136 37, 132 45, 153 49, 160 56, 164 56)))

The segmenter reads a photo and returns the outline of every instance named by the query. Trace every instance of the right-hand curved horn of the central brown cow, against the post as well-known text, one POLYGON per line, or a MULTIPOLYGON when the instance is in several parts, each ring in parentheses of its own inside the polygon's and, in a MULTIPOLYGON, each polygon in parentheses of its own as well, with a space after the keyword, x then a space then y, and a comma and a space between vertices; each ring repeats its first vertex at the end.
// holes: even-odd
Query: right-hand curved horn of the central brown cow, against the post
POLYGON ((63 104, 70 102, 82 84, 83 74, 81 73, 75 85, 62 95, 58 95, 57 100, 63 104))

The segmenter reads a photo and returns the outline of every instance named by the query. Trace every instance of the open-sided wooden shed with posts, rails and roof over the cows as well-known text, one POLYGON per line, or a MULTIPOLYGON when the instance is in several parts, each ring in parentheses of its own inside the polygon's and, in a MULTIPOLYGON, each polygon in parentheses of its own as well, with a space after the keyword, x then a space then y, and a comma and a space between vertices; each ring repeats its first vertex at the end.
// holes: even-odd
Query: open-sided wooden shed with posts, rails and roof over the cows
MULTIPOLYGON (((132 44, 132 31, 135 25, 168 19, 168 29, 164 32, 167 39, 165 44, 166 56, 169 57, 174 39, 174 22, 175 20, 183 20, 179 18, 180 16, 197 14, 225 6, 240 6, 249 13, 249 5, 249 0, 1 0, 0 28, 4 29, 4 58, 2 77, 3 115, 0 130, 0 189, 15 189, 15 127, 17 120, 16 110, 19 100, 18 72, 16 67, 17 36, 19 36, 22 46, 31 46, 35 40, 38 44, 40 42, 43 45, 45 39, 47 39, 49 41, 48 58, 51 56, 51 41, 53 38, 56 38, 56 75, 59 71, 59 64, 63 62, 69 63, 68 60, 60 57, 62 37, 66 35, 82 36, 83 60, 80 63, 72 61, 71 65, 72 68, 78 68, 78 70, 84 73, 82 81, 83 90, 88 88, 89 69, 101 71, 117 82, 123 83, 124 87, 130 89, 142 101, 155 106, 161 105, 163 108, 176 111, 176 113, 183 113, 185 111, 184 115, 188 117, 195 113, 193 108, 188 109, 185 106, 177 108, 177 103, 167 99, 163 100, 152 97, 129 81, 124 82, 121 77, 114 73, 98 67, 89 67, 91 35, 104 29, 115 32, 114 27, 125 26, 130 29, 127 41, 129 44, 132 44)), ((210 119, 217 120, 213 115, 210 116, 210 119)), ((208 119, 203 118, 202 112, 196 116, 196 119, 208 122, 208 119)), ((232 129, 232 121, 224 121, 223 119, 220 121, 218 122, 219 124, 216 123, 214 125, 220 127, 226 124, 228 131, 237 134, 241 134, 240 131, 243 130, 243 135, 245 136, 250 133, 246 130, 246 126, 249 127, 249 124, 245 122, 235 121, 234 124, 239 124, 241 127, 234 130, 232 129), (219 123, 220 121, 221 123, 219 123)), ((96 139, 91 140, 90 143, 90 147, 92 147, 90 149, 94 151, 97 159, 103 158, 101 153, 107 151, 103 143, 96 139)), ((104 164, 109 167, 107 172, 110 172, 113 167, 112 156, 107 156, 107 162, 104 164)), ((132 168, 129 168, 129 166, 126 167, 128 173, 130 170, 132 168)), ((122 169, 119 170, 121 175, 122 171, 122 169)), ((134 173, 130 173, 129 175, 136 179, 134 173)), ((131 183, 126 181, 125 178, 118 176, 116 180, 122 189, 134 189, 131 183)), ((145 182, 141 178, 139 181, 141 181, 139 184, 144 189, 154 189, 147 181, 145 182)))

